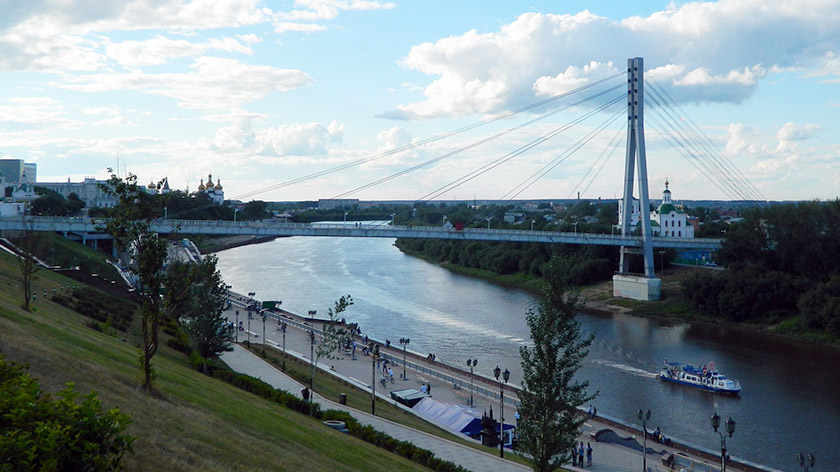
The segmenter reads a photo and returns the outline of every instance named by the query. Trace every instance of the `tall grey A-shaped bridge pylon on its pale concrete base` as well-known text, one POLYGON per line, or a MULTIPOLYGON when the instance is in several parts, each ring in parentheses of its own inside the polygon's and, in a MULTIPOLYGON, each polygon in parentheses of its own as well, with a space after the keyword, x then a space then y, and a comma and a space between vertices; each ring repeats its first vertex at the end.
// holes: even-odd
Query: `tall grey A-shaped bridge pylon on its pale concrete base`
POLYGON ((621 246, 618 273, 613 276, 613 295, 635 300, 659 300, 662 281, 656 278, 653 266, 653 243, 650 226, 650 199, 645 156, 644 115, 644 59, 627 59, 627 154, 624 161, 624 198, 621 201, 621 235, 633 231, 633 184, 635 174, 639 180, 639 222, 642 229, 642 247, 621 246), (641 252, 644 273, 630 273, 630 254, 641 252))

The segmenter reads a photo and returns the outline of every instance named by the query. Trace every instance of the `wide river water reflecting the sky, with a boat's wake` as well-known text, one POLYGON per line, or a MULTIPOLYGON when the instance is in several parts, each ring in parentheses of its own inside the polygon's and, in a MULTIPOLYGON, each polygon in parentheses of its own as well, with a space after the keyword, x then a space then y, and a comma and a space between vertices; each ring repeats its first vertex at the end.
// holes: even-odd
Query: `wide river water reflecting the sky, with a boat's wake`
MULTIPOLYGON (((492 376, 498 364, 518 384, 518 349, 528 342, 525 313, 536 299, 520 290, 453 274, 404 255, 391 239, 292 237, 218 254, 225 282, 260 300, 282 300, 296 313, 327 309, 342 295, 347 312, 376 339, 411 339, 409 348, 492 376)), ((627 315, 580 315, 595 341, 580 378, 599 395, 599 413, 636 422, 650 409, 651 428, 720 450, 709 417, 732 417, 732 456, 795 470, 797 452, 813 452, 817 470, 840 470, 840 350, 768 338, 752 332, 627 315), (664 359, 715 361, 741 381, 740 397, 657 379, 664 359)), ((721 427, 722 429, 722 427, 721 427)))

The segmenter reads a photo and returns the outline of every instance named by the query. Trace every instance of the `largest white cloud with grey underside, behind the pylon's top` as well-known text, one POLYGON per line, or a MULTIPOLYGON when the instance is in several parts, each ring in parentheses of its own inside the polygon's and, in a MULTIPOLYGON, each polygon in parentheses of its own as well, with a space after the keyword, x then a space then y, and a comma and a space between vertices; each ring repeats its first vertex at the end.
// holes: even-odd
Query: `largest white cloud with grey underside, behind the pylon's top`
MULTIPOLYGON (((401 65, 436 78, 425 99, 382 116, 398 119, 498 112, 608 75, 607 64, 643 55, 649 78, 674 99, 740 103, 768 73, 833 73, 840 3, 720 0, 671 4, 614 21, 525 13, 497 32, 468 31, 414 46, 401 65)), ((617 67, 619 70, 623 67, 617 67)))

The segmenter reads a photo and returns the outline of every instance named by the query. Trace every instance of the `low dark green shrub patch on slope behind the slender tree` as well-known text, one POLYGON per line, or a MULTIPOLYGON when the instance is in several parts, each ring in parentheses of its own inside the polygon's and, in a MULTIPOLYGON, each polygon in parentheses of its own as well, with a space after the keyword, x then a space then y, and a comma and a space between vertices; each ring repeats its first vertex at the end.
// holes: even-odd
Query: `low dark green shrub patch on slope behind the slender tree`
POLYGON ((90 287, 75 289, 69 296, 56 293, 52 296, 52 300, 123 332, 131 326, 134 313, 137 311, 135 304, 90 287))

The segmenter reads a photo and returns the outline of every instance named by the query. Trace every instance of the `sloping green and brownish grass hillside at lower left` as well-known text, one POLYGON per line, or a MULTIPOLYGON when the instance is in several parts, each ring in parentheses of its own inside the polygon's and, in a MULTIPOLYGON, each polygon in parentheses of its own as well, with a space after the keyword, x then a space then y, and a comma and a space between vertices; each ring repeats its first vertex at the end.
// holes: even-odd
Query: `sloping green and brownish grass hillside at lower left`
POLYGON ((161 347, 154 359, 155 394, 143 392, 137 327, 111 336, 85 326, 80 314, 45 299, 72 283, 41 270, 33 311, 20 308, 17 262, 0 255, 0 354, 27 362, 44 390, 66 382, 98 392, 119 407, 138 439, 127 470, 425 470, 276 403, 193 371, 186 358, 161 347), (116 337, 118 336, 118 337, 116 337))

